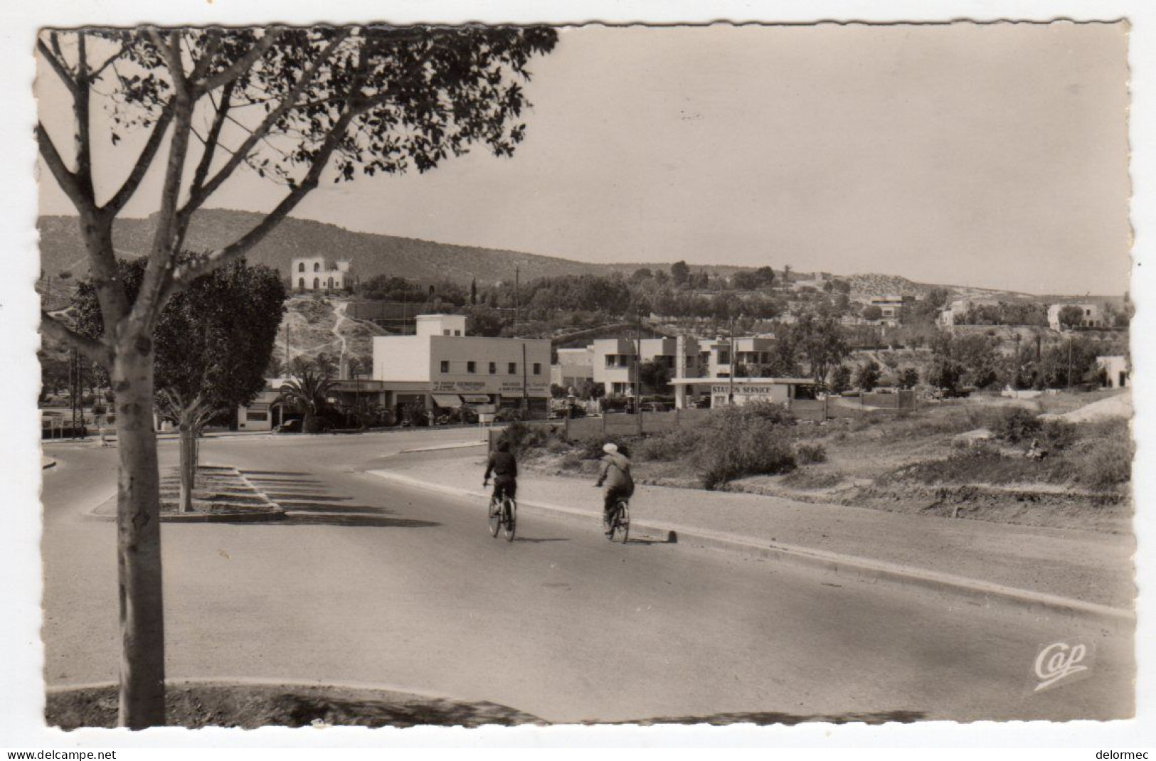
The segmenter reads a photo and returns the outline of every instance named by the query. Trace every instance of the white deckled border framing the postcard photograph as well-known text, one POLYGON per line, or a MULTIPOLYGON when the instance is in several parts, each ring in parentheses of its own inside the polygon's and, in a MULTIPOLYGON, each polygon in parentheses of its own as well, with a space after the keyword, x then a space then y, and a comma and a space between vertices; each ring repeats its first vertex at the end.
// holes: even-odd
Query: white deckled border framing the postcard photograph
MULTIPOLYGON (((520 727, 518 730, 464 731, 420 727, 407 731, 327 730, 290 731, 268 729, 255 732, 158 730, 127 734, 109 731, 60 733, 42 727, 43 649, 40 622, 39 557, 39 452, 36 435, 38 414, 34 404, 39 376, 35 362, 38 303, 32 283, 38 273, 35 221, 37 192, 32 140, 35 104, 31 97, 32 40, 43 25, 81 23, 124 24, 228 23, 281 21, 288 23, 356 22, 384 20, 395 23, 447 22, 554 22, 580 23, 703 23, 710 21, 948 21, 948 20, 1116 20, 1128 19, 1132 68, 1132 176, 1134 193, 1132 223, 1136 230, 1133 252, 1132 293, 1138 312, 1133 324, 1134 399, 1139 459, 1134 473, 1140 515, 1136 533, 1140 546, 1138 576, 1141 589, 1153 578, 1156 557, 1151 551, 1156 520, 1151 515, 1153 468, 1144 467, 1156 444, 1153 418, 1156 405, 1146 399, 1154 367, 1151 341, 1156 310, 1148 296, 1156 293, 1149 254, 1156 229, 1156 3, 1149 0, 590 0, 583 3, 556 0, 491 0, 484 5, 467 0, 344 0, 340 5, 316 0, 166 0, 143 3, 133 0, 14 0, 0 9, 0 146, 3 146, 5 180, 0 183, 0 242, 3 273, 0 279, 0 748, 67 747, 214 747, 237 746, 335 746, 335 747, 430 747, 430 746, 1053 746, 1125 748, 1156 746, 1156 701, 1153 696, 1153 645, 1156 606, 1141 594, 1138 611, 1140 647, 1138 671, 1138 718, 1109 724, 1074 722, 918 723, 912 725, 830 726, 803 724, 794 727, 520 727), (1143 265, 1148 264, 1149 267, 1143 265), (1147 726, 1146 726, 1147 725, 1147 726)), ((1089 252, 1095 256, 1095 252, 1089 252)), ((899 273, 902 274, 902 273, 899 273)), ((1087 758, 1092 758, 1091 752, 1087 758)))

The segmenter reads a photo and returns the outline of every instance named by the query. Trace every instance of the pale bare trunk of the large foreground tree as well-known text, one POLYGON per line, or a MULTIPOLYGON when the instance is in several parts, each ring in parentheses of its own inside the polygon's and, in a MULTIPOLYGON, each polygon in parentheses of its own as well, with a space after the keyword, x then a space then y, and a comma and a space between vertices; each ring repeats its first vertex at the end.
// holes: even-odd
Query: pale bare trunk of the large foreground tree
POLYGON ((135 730, 165 723, 161 483, 153 430, 149 339, 121 341, 113 361, 112 384, 117 392, 120 455, 117 494, 121 638, 119 724, 135 730))

